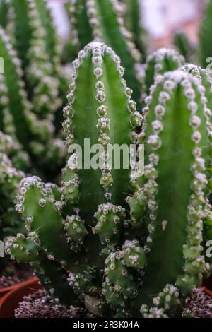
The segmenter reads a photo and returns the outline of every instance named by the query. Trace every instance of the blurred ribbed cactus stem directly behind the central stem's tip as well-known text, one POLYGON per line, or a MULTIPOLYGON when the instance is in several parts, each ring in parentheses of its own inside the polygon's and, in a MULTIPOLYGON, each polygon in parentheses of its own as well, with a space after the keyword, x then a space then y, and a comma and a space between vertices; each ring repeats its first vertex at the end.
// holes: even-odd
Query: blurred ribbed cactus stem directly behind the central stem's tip
POLYGON ((123 4, 117 0, 71 0, 71 36, 78 51, 93 40, 105 42, 122 59, 126 69, 124 78, 139 101, 139 74, 137 63, 140 54, 124 28, 123 4), (136 78, 137 77, 137 78, 136 78))

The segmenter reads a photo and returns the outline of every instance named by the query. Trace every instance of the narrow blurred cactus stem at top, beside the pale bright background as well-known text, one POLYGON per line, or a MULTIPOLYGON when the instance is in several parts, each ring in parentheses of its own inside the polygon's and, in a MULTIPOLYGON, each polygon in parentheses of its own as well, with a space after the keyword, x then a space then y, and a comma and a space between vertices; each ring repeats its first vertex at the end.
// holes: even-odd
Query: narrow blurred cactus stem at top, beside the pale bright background
POLYGON ((125 4, 125 24, 126 28, 132 33, 136 48, 142 55, 142 61, 146 61, 148 32, 142 26, 141 3, 139 0, 124 0, 125 4))

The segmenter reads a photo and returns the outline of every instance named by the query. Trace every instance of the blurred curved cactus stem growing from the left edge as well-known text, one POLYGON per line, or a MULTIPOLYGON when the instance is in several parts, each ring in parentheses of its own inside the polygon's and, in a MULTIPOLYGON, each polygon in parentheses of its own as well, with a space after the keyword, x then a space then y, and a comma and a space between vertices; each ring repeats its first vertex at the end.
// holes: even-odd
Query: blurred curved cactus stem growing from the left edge
POLYGON ((4 75, 1 81, 4 82, 3 89, 7 99, 7 105, 4 105, 4 108, 7 107, 9 110, 8 115, 8 112, 1 107, 4 119, 2 129, 6 134, 12 134, 29 154, 36 155, 35 145, 52 138, 54 129, 49 121, 40 121, 31 112, 32 107, 28 102, 24 90, 25 84, 21 79, 20 61, 2 29, 0 29, 0 45, 1 56, 4 58, 4 75))

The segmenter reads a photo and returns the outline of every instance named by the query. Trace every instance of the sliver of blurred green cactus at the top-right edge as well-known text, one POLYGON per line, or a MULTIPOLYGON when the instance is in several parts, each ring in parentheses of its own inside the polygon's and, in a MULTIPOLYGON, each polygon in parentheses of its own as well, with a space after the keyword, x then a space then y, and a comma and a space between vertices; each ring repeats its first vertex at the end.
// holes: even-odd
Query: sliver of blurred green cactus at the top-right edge
MULTIPOLYGON (((208 66, 208 58, 211 58, 211 13, 212 13, 212 1, 206 1, 204 18, 199 30, 199 61, 203 68, 208 66)), ((211 61, 211 59, 210 59, 211 61)))

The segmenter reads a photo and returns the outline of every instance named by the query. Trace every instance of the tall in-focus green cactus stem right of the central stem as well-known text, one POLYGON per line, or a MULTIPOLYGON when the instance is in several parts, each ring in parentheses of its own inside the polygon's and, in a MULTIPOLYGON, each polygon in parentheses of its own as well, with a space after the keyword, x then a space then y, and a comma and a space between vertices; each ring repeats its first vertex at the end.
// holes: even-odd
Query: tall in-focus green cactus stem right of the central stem
MULTIPOLYGON (((151 304, 151 294, 175 283, 187 294, 199 285, 201 273, 208 268, 201 247, 206 167, 210 162, 208 120, 204 88, 198 79, 183 71, 156 79, 143 129, 150 250, 139 295, 143 304, 151 304), (153 183, 155 194, 148 196, 153 183), (153 271, 158 271, 157 275, 153 271)), ((163 306, 166 302, 163 300, 163 306)), ((147 314, 146 306, 142 312, 147 314)))

